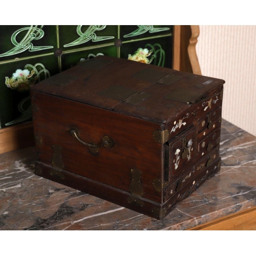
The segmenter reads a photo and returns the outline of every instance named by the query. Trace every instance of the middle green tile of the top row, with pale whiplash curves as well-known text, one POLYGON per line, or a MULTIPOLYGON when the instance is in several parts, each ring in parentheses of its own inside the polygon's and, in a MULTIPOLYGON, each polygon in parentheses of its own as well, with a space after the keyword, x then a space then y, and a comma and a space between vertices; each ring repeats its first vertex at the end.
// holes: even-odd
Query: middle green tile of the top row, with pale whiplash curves
POLYGON ((116 39, 117 26, 113 25, 59 26, 60 48, 63 51, 114 44, 116 39))

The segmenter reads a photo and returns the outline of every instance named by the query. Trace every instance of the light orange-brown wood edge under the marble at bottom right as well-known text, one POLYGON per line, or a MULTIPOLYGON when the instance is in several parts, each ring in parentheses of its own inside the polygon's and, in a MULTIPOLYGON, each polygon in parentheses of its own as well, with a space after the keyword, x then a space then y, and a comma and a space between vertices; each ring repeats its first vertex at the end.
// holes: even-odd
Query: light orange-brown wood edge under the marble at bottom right
POLYGON ((256 207, 208 222, 189 230, 256 230, 256 207))

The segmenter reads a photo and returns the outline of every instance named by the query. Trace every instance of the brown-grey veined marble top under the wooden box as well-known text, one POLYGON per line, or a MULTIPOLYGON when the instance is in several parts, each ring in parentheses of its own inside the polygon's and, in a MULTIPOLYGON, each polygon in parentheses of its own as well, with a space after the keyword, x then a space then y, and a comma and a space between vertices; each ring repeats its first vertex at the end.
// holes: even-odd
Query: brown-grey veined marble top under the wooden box
POLYGON ((256 206, 256 137, 223 120, 222 166, 163 220, 34 174, 35 148, 0 155, 0 230, 184 230, 256 206))

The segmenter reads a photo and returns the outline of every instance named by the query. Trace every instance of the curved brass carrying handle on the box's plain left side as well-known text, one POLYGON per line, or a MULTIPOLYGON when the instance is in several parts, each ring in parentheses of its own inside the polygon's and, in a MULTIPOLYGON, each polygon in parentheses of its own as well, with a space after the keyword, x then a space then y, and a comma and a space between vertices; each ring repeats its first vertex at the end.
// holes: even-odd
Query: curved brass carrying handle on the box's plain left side
POLYGON ((104 147, 108 147, 111 148, 113 147, 113 140, 109 137, 109 136, 104 136, 102 138, 102 143, 101 145, 97 145, 94 142, 84 142, 79 138, 79 130, 77 129, 77 127, 75 126, 71 126, 69 129, 70 135, 74 138, 76 138, 80 143, 82 143, 83 145, 89 146, 89 149, 92 153, 97 153, 99 151, 99 147, 104 146, 104 147))

